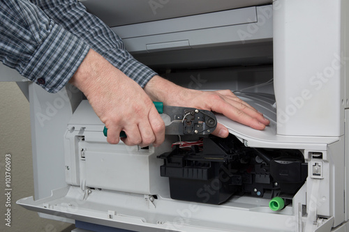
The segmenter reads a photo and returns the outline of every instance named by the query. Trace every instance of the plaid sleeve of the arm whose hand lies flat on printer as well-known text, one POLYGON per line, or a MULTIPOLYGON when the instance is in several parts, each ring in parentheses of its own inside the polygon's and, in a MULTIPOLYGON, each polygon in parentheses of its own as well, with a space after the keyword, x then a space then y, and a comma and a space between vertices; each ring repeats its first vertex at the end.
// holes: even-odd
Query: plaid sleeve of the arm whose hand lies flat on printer
POLYGON ((144 87, 156 72, 138 62, 129 54, 121 38, 98 17, 87 13, 77 0, 30 0, 39 6, 54 22, 86 41, 114 67, 144 87))

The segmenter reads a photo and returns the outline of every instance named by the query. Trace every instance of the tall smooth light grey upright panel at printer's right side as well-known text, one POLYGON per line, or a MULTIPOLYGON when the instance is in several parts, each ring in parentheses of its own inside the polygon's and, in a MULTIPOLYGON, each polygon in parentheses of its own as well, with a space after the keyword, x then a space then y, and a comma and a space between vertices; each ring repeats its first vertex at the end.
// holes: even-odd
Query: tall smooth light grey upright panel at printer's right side
POLYGON ((274 1, 277 133, 344 133, 345 1, 274 1))

